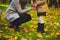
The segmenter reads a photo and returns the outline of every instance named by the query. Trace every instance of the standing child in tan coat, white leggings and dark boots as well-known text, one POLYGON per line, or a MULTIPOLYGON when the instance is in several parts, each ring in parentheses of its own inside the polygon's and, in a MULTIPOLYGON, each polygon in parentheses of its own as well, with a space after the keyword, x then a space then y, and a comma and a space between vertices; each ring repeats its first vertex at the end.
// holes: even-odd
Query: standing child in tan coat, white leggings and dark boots
POLYGON ((38 16, 38 28, 37 32, 44 33, 44 20, 43 17, 46 16, 46 12, 48 10, 47 0, 34 0, 35 3, 38 3, 36 10, 38 16))

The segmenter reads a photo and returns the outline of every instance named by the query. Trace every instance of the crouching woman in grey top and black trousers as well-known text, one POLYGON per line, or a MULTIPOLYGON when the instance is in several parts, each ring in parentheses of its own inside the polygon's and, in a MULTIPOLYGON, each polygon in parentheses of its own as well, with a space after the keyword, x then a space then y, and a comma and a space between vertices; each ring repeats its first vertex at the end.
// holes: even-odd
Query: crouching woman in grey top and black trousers
POLYGON ((10 24, 10 28, 19 30, 19 25, 31 20, 31 16, 26 14, 33 7, 25 8, 25 5, 30 0, 12 0, 8 9, 6 10, 6 20, 10 24))

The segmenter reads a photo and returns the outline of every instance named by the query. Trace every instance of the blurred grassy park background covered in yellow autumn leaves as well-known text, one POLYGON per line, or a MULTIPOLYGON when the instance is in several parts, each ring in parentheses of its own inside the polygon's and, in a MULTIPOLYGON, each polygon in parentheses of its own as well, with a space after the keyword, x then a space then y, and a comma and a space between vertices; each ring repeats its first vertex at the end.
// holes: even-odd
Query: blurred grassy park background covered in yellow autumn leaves
MULTIPOLYGON (((0 40, 60 40, 60 0, 47 0, 49 10, 44 17, 45 33, 37 33, 38 17, 36 11, 29 11, 32 20, 20 25, 21 31, 9 29, 5 11, 11 0, 0 0, 0 40)), ((29 7, 30 4, 26 4, 29 7)))

